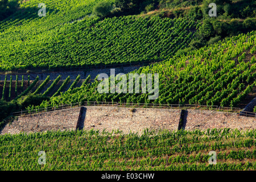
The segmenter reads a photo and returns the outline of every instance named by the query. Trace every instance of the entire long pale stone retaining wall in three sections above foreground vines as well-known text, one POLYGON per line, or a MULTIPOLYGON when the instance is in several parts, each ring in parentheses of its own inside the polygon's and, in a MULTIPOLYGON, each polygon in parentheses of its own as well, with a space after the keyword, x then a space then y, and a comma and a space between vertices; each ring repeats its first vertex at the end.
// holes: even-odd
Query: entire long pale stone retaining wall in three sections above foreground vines
MULTIPOLYGON (((144 129, 170 130, 178 129, 180 109, 131 108, 115 106, 84 106, 51 111, 26 117, 18 117, 0 134, 30 133, 47 130, 122 130, 123 133, 139 133, 144 129), (79 117, 80 115, 80 117, 79 117), (82 121, 81 121, 82 118, 82 121), (80 121, 77 123, 77 121, 80 121)), ((256 118, 244 117, 236 113, 226 113, 211 110, 188 109, 184 115, 185 130, 206 129, 256 129, 256 118)))

